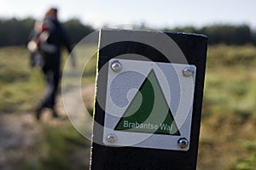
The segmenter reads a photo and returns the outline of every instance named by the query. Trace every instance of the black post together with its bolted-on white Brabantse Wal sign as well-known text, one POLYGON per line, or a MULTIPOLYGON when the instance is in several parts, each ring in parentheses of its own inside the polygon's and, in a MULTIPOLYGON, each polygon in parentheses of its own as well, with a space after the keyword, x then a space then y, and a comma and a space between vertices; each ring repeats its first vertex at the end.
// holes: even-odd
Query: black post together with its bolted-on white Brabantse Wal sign
POLYGON ((91 170, 195 170, 207 37, 103 29, 91 170))

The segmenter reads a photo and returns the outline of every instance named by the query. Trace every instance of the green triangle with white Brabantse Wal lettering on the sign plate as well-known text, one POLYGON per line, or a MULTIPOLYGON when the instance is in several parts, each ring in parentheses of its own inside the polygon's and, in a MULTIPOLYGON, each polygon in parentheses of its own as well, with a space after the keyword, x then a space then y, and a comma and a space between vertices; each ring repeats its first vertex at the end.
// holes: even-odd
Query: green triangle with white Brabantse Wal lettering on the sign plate
POLYGON ((180 136, 154 70, 148 73, 114 130, 180 136))

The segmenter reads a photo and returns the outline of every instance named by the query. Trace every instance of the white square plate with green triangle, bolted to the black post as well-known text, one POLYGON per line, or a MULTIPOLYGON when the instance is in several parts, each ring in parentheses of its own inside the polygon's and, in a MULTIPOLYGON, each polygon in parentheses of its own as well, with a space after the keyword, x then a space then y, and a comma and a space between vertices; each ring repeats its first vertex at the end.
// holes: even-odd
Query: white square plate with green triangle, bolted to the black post
POLYGON ((103 143, 189 150, 195 65, 111 59, 103 143))

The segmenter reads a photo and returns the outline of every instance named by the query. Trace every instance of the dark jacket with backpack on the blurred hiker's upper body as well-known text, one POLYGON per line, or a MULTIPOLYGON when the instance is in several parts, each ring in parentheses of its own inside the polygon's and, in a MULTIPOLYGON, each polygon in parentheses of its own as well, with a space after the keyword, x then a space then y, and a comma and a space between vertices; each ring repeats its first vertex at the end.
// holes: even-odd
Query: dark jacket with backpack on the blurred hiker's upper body
MULTIPOLYGON (((60 68, 61 47, 64 45, 69 54, 72 52, 69 38, 61 23, 54 18, 46 18, 42 24, 42 31, 33 29, 30 40, 37 43, 38 50, 31 53, 31 65, 44 69, 60 68)), ((73 57, 73 55, 72 55, 73 57)), ((74 59, 72 59, 74 65, 74 59)))

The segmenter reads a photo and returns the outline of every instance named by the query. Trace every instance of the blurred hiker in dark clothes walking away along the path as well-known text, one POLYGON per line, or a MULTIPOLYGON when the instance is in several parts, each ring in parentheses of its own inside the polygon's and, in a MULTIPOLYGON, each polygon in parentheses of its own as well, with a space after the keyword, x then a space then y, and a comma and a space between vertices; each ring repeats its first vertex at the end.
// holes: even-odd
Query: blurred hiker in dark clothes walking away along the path
POLYGON ((55 98, 58 85, 61 79, 61 46, 65 45, 73 67, 75 66, 74 56, 71 53, 71 44, 67 32, 61 26, 57 18, 57 9, 50 8, 44 15, 44 20, 36 21, 27 44, 31 57, 31 66, 39 66, 44 73, 47 88, 43 99, 38 104, 35 114, 39 120, 44 108, 52 111, 53 117, 58 117, 55 110, 55 98))

